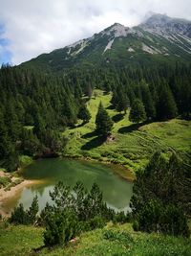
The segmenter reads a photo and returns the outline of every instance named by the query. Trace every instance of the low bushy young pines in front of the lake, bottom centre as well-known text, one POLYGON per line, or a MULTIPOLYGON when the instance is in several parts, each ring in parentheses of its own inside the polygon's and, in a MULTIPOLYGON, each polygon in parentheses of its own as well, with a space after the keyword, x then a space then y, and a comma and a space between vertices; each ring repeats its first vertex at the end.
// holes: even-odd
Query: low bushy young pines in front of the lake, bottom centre
POLYGON ((50 192, 50 196, 53 205, 46 205, 39 222, 46 228, 46 246, 67 244, 83 231, 102 228, 106 221, 127 221, 124 213, 117 214, 115 219, 115 212, 103 202, 102 193, 96 183, 87 192, 81 182, 77 182, 73 189, 59 182, 53 192, 50 192))

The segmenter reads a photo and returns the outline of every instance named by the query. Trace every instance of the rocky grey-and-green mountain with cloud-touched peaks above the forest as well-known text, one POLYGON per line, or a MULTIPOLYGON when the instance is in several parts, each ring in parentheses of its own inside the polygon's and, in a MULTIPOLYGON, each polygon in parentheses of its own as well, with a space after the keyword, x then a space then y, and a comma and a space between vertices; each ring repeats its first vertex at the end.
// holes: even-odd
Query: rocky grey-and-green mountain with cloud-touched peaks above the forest
POLYGON ((59 71, 177 60, 191 60, 191 22, 154 13, 137 27, 115 23, 92 37, 42 54, 24 65, 59 71))

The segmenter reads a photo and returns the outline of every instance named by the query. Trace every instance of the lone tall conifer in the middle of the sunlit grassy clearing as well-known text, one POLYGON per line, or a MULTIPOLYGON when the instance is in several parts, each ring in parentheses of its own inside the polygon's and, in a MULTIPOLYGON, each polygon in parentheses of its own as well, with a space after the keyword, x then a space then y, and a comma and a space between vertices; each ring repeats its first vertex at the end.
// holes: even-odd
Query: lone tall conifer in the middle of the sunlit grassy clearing
POLYGON ((107 111, 100 103, 96 114, 96 132, 100 136, 107 136, 113 128, 113 122, 107 111))

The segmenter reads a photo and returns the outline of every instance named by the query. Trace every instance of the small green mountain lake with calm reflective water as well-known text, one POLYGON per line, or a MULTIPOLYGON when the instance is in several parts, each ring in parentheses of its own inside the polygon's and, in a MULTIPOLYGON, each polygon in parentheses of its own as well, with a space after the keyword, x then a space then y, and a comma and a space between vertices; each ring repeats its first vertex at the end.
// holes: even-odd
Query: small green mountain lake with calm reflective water
POLYGON ((71 159, 40 159, 32 163, 22 171, 25 179, 38 181, 32 186, 24 188, 15 198, 8 203, 11 209, 22 202, 25 208, 32 203, 32 198, 37 195, 40 210, 47 201, 51 201, 49 191, 58 181, 74 186, 77 181, 82 181, 87 189, 94 182, 103 192, 103 198, 107 204, 116 210, 128 210, 132 197, 133 184, 115 174, 117 166, 104 165, 71 159), (39 182, 40 181, 40 182, 39 182))

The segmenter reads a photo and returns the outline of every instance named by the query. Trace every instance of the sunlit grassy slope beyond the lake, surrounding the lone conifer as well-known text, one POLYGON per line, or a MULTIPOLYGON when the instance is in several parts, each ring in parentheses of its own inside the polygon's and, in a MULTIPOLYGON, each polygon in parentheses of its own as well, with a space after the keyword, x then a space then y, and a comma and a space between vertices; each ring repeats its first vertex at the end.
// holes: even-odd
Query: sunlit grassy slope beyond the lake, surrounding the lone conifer
MULTIPOLYGON (((112 95, 104 95, 98 90, 96 92, 96 99, 93 96, 87 104, 92 115, 91 121, 83 127, 67 129, 64 132, 70 138, 65 151, 67 155, 114 162, 135 172, 147 163, 150 155, 157 149, 166 153, 172 149, 191 149, 191 122, 175 119, 136 127, 128 120, 128 113, 117 122, 119 113, 115 109, 110 109, 112 95), (116 120, 113 128, 116 140, 112 143, 102 144, 94 134, 96 111, 100 101, 110 116, 116 120)), ((122 175, 125 176, 124 171, 122 175)))

